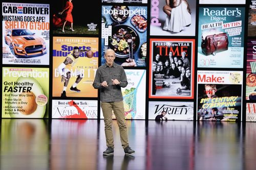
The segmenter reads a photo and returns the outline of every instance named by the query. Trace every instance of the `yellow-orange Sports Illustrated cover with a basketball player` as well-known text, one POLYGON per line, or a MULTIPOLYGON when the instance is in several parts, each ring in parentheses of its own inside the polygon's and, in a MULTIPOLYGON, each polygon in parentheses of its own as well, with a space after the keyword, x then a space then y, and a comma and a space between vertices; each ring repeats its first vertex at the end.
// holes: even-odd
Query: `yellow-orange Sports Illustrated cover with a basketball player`
POLYGON ((98 55, 98 38, 53 37, 53 96, 63 99, 97 97, 98 90, 92 84, 98 68, 98 55), (93 56, 89 58, 87 51, 92 51, 93 56))

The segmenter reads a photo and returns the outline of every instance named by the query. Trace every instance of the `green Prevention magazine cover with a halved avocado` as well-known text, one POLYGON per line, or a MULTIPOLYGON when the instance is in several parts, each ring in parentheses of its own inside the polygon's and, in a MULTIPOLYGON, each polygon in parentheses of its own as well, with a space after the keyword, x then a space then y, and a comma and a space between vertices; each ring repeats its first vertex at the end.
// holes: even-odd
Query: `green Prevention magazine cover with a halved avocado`
POLYGON ((49 68, 3 67, 2 117, 48 118, 49 68))

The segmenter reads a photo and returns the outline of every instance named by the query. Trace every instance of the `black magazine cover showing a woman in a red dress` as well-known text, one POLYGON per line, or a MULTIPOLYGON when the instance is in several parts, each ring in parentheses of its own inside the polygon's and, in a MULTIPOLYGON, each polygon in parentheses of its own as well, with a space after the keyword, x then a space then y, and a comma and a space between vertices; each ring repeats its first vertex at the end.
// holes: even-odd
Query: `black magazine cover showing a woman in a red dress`
POLYGON ((99 34, 100 2, 52 1, 53 34, 99 34), (92 8, 92 10, 89 10, 92 8))

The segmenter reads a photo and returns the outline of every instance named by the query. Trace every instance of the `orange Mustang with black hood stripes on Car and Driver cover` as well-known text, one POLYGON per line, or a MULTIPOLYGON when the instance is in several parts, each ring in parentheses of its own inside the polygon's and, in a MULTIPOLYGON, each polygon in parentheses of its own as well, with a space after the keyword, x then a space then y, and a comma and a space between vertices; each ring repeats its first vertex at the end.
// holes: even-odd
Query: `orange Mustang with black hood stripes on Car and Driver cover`
POLYGON ((27 29, 6 30, 5 43, 16 57, 33 57, 47 53, 44 39, 27 29))

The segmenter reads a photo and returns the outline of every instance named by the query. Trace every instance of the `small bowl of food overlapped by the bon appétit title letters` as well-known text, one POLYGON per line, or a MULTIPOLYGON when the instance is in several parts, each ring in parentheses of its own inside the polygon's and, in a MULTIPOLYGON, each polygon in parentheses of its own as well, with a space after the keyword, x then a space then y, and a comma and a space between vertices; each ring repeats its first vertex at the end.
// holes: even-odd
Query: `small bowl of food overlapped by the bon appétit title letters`
POLYGON ((129 17, 129 8, 127 6, 113 6, 111 10, 113 11, 110 15, 111 18, 119 23, 124 22, 129 17))

